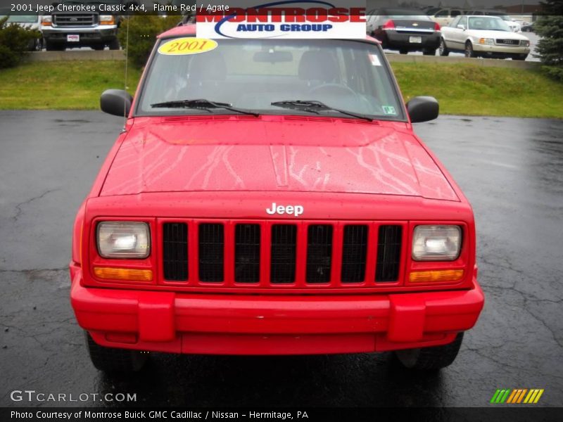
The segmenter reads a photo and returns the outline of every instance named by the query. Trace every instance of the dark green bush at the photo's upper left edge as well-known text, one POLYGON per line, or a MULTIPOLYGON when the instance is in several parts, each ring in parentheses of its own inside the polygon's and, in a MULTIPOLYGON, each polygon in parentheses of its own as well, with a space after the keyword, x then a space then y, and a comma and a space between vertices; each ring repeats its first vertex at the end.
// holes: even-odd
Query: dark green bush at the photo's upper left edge
POLYGON ((34 39, 41 37, 37 31, 8 23, 8 16, 0 18, 0 68, 13 68, 20 64, 34 39))

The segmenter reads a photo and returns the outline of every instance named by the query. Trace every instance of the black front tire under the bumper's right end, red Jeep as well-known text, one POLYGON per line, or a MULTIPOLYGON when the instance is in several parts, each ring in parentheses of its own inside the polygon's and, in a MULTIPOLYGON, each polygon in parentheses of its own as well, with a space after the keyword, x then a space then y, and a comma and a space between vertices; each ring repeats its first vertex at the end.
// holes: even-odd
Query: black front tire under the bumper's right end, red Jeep
POLYGON ((452 343, 421 349, 396 350, 398 361, 408 369, 436 371, 453 363, 462 345, 463 332, 458 333, 452 343))

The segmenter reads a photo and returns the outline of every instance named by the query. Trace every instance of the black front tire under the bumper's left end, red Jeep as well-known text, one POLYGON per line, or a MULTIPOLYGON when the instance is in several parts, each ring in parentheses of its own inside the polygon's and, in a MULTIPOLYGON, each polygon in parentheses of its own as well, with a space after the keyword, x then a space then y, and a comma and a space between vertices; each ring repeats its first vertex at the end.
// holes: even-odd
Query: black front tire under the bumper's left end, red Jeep
POLYGON ((92 364, 97 369, 104 372, 137 372, 143 369, 148 359, 148 354, 139 350, 114 349, 113 347, 103 347, 94 340, 91 335, 85 332, 86 345, 90 354, 92 364))

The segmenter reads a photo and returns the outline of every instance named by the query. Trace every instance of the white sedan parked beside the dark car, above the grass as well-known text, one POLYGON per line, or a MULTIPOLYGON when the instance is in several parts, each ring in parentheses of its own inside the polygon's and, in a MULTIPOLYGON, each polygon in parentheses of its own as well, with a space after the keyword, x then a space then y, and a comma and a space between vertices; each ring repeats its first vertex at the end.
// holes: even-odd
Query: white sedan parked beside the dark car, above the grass
POLYGON ((512 58, 526 60, 530 40, 512 32, 498 16, 458 16, 442 27, 441 56, 462 51, 465 57, 512 58))

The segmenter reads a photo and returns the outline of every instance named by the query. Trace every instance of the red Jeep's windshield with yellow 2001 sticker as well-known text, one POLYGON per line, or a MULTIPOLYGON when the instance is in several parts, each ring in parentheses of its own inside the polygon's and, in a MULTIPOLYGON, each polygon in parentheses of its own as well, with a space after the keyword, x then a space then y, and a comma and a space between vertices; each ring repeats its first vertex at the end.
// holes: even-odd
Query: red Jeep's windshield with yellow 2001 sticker
MULTIPOLYGON (((176 40, 161 40, 159 47, 165 50, 175 43, 173 48, 180 49, 185 39, 176 40)), ((361 41, 229 39, 198 54, 157 52, 137 114, 232 114, 225 108, 153 107, 205 99, 259 114, 310 115, 311 108, 288 109, 272 103, 320 101, 329 108, 404 120, 403 106, 379 51, 378 46, 361 41)), ((349 118, 327 108, 317 107, 315 113, 349 118)))

